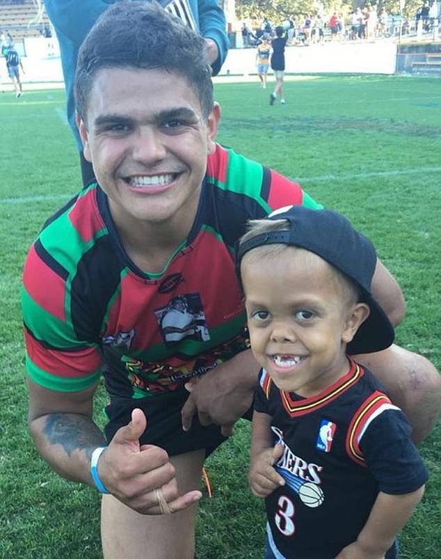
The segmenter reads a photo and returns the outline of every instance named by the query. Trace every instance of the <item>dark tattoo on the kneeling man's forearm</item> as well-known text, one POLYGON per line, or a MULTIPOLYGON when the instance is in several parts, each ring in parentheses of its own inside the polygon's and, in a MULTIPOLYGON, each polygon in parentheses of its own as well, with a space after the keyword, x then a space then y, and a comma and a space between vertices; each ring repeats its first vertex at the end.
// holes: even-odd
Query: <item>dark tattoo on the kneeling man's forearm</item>
POLYGON ((104 443, 97 425, 79 414, 49 414, 43 434, 51 445, 61 444, 68 456, 74 450, 86 450, 90 458, 93 450, 104 443))

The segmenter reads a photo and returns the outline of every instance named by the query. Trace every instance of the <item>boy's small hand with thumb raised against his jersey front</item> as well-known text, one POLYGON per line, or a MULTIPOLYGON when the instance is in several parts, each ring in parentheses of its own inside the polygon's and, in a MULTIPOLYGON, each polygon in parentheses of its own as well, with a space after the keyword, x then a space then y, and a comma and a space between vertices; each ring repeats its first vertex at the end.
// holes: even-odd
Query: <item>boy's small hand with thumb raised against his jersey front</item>
POLYGON ((275 471, 273 464, 283 454, 283 446, 265 448, 252 459, 248 480, 252 494, 256 497, 266 497, 281 485, 284 479, 275 471))

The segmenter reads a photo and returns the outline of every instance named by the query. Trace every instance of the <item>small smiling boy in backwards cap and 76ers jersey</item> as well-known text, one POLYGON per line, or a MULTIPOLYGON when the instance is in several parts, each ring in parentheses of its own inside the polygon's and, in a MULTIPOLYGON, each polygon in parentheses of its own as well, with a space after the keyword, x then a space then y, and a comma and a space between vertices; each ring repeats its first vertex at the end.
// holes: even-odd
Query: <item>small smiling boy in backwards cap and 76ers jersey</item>
POLYGON ((428 475, 405 416, 350 357, 394 340, 374 246, 335 212, 289 207, 250 222, 236 265, 262 365, 249 479, 266 559, 396 558, 428 475))

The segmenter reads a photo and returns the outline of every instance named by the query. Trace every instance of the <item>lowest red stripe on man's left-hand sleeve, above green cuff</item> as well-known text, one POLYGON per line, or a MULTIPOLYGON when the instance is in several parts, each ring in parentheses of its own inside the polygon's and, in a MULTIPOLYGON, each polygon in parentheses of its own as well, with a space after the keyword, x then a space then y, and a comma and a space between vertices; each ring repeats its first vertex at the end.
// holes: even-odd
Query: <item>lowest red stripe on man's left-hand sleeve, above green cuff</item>
POLYGON ((79 378, 92 375, 99 369, 102 356, 95 347, 67 352, 62 349, 48 349, 24 329, 24 340, 29 358, 38 368, 56 377, 79 378))

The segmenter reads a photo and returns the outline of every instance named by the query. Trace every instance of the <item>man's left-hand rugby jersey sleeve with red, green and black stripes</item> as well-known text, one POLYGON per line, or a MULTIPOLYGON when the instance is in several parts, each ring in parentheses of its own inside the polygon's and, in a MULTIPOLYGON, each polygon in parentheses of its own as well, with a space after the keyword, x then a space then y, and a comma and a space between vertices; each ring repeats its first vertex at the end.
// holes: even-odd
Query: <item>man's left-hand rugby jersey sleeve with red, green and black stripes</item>
POLYGON ((97 212, 88 210, 92 200, 95 189, 90 187, 52 216, 24 265, 26 371, 36 384, 54 391, 91 388, 102 365, 102 319, 94 301, 103 280, 91 281, 90 267, 83 262, 85 254, 93 262, 98 260, 90 249, 97 239, 106 239, 97 212))

